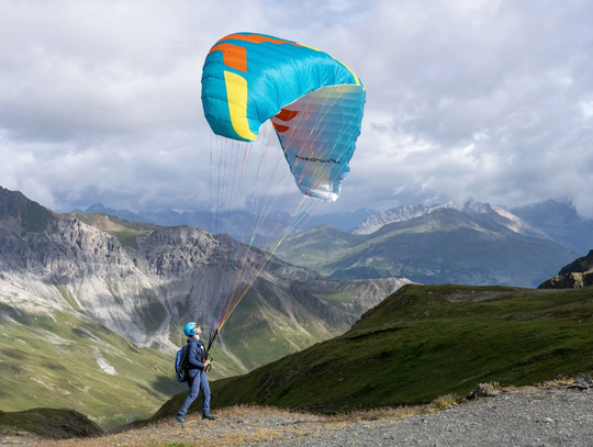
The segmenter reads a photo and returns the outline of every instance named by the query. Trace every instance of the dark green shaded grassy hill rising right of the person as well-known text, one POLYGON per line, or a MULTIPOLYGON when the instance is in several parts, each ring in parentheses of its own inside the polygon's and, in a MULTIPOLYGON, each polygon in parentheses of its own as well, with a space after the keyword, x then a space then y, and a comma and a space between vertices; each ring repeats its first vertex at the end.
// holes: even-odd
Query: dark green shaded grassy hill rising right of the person
MULTIPOLYGON (((214 407, 349 411, 593 371, 593 288, 406 286, 349 332, 212 383, 214 407)), ((186 393, 155 415, 172 414, 186 393)), ((197 402, 194 409, 199 409, 197 402)))

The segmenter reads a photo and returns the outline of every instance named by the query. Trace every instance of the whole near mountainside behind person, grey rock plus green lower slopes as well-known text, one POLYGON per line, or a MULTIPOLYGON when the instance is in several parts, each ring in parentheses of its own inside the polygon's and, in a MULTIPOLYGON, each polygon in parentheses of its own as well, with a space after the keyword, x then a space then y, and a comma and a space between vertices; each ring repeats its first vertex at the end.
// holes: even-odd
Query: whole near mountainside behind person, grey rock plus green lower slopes
MULTIPOLYGON (((0 190, 0 380, 11 385, 0 409, 76 407, 103 427, 148 416, 180 390, 172 354, 186 340, 181 327, 193 320, 212 329, 220 284, 245 250, 199 228, 60 215, 0 190)), ((271 258, 221 332, 211 377, 338 335, 407 282, 329 280, 271 258)))

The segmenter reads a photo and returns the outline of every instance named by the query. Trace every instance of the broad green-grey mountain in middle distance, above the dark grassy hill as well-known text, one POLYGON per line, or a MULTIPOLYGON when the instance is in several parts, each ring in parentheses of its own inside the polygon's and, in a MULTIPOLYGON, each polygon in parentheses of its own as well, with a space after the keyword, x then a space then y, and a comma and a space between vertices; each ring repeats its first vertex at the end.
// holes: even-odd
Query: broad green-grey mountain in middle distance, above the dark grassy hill
POLYGON ((492 205, 400 211, 399 222, 370 234, 312 228, 292 237, 277 255, 336 279, 401 276, 419 283, 522 287, 537 287, 575 256, 492 205))

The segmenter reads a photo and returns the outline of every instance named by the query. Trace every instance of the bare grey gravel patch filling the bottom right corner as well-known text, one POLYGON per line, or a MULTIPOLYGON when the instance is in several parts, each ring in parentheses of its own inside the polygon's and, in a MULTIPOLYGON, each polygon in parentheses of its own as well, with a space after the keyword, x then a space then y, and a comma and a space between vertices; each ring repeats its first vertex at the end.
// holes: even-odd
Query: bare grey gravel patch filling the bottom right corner
POLYGON ((351 424, 259 445, 593 447, 593 394, 560 389, 502 393, 437 414, 351 424))

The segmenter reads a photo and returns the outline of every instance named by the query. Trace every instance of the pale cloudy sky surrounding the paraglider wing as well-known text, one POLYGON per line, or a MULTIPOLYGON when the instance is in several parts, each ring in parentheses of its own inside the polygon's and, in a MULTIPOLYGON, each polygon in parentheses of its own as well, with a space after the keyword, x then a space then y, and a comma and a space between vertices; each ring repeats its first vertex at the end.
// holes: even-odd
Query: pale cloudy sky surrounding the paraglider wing
POLYGON ((589 0, 4 0, 0 186, 54 211, 208 206, 201 69, 253 31, 363 80, 338 201, 572 200, 593 217, 589 0))

